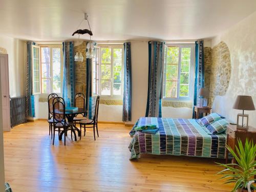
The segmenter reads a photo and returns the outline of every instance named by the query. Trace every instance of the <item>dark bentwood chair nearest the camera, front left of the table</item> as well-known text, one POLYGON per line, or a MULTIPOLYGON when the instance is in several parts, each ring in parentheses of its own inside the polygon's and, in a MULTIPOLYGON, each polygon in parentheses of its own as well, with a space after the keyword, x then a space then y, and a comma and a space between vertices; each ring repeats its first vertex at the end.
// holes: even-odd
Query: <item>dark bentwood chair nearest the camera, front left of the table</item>
POLYGON ((64 143, 66 145, 66 135, 68 127, 72 127, 69 122, 66 120, 66 112, 65 112, 65 100, 61 97, 55 97, 53 99, 53 142, 55 139, 55 132, 58 132, 58 136, 61 131, 65 131, 64 135, 64 143))

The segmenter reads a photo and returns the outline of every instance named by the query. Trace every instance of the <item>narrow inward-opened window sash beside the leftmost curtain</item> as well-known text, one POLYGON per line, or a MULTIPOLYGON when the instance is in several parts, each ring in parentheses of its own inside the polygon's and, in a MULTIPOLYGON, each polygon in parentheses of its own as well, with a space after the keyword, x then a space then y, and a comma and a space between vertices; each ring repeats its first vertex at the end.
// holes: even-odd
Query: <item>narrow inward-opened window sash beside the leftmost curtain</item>
POLYGON ((32 46, 32 92, 40 94, 40 47, 32 46))

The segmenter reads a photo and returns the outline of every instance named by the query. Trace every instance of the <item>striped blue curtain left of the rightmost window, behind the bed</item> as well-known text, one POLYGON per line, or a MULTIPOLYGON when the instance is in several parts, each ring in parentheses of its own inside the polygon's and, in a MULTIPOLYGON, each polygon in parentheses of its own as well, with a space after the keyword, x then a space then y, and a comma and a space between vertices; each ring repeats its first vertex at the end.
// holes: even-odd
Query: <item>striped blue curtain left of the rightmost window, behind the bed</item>
POLYGON ((164 44, 163 41, 148 41, 146 117, 162 117, 164 44))

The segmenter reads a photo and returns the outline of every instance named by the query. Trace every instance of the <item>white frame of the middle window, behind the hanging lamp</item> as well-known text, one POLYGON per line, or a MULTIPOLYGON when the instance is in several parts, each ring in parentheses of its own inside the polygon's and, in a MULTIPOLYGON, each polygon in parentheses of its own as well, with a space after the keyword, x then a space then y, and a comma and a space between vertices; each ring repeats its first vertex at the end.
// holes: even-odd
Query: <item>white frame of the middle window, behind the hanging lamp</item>
MULTIPOLYGON (((124 59, 124 48, 123 45, 120 44, 111 44, 111 45, 98 45, 99 49, 99 79, 98 79, 98 93, 101 98, 108 98, 108 99, 122 99, 123 98, 123 80, 124 80, 124 68, 123 68, 123 59, 124 59), (111 48, 111 95, 101 95, 101 48, 111 48), (113 63, 113 50, 114 49, 122 49, 122 71, 121 71, 121 95, 113 95, 113 87, 114 87, 114 63, 113 63)), ((104 63, 105 65, 106 63, 104 63)), ((92 65, 93 70, 93 65, 92 65)), ((93 89, 93 79, 92 79, 92 89, 93 89)), ((92 91, 93 92, 93 91, 92 91)), ((96 96, 93 94, 93 96, 96 96)))

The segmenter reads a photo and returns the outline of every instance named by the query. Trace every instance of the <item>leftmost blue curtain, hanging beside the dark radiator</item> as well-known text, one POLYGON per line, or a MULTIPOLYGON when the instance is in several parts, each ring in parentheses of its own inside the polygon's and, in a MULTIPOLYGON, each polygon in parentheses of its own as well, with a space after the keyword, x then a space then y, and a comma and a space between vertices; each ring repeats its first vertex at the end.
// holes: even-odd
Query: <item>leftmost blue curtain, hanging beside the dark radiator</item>
POLYGON ((26 77, 26 114, 35 117, 35 96, 32 95, 32 45, 35 42, 27 41, 27 77, 26 77))

